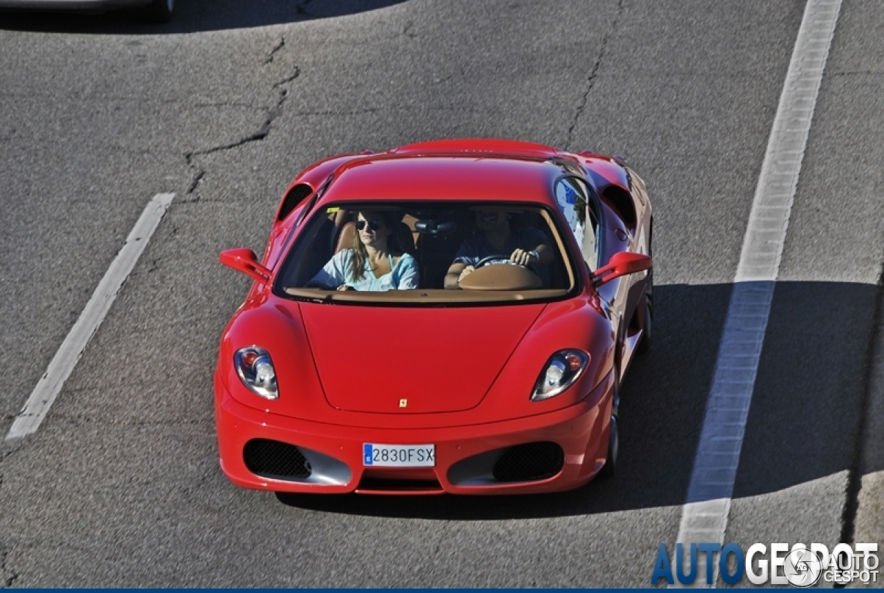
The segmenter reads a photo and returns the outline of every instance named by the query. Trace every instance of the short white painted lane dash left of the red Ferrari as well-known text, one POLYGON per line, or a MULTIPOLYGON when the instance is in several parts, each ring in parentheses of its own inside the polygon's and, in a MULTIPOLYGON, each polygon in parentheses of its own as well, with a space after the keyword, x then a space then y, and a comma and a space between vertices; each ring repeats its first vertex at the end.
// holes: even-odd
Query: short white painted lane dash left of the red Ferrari
POLYGON ((37 381, 31 397, 27 398, 25 407, 13 420, 9 434, 6 435, 7 441, 30 435, 40 426, 174 197, 175 194, 157 194, 150 200, 144 212, 141 212, 141 218, 135 223, 123 248, 98 283, 92 298, 80 313, 80 319, 73 324, 46 373, 37 381))

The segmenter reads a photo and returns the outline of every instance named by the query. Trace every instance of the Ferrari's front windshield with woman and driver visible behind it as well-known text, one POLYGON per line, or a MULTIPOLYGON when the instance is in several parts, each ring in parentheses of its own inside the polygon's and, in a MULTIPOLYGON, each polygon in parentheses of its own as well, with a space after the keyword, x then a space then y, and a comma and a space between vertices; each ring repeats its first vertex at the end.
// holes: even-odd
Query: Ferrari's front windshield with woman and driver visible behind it
POLYGON ((577 284, 567 236, 543 204, 324 204, 301 225, 273 289, 327 303, 552 300, 577 284))

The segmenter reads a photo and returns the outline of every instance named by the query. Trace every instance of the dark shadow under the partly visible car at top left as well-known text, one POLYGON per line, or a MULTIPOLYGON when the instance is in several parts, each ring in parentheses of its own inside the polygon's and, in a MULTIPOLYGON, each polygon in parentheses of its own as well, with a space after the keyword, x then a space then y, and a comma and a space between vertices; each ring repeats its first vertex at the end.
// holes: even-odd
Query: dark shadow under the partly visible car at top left
POLYGON ((165 35, 283 25, 370 12, 405 0, 176 0, 171 23, 138 8, 108 12, 0 12, 0 29, 80 35, 165 35))

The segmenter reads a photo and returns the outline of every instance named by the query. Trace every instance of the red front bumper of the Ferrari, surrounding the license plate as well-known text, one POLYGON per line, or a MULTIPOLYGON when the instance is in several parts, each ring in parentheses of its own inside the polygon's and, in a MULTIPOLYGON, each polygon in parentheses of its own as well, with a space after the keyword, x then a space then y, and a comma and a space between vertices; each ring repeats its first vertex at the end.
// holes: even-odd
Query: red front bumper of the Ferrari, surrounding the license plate
POLYGON ((563 410, 472 426, 397 430, 337 426, 262 412, 237 402, 217 377, 215 383, 221 468, 243 488, 316 494, 544 493, 582 486, 604 466, 607 455, 610 375, 580 403, 563 410), (302 455, 307 471, 284 479, 253 473, 245 451, 247 446, 255 451, 255 443, 273 443, 271 447, 302 455), (431 443, 436 463, 417 468, 363 466, 364 443, 431 443), (525 447, 543 451, 560 447, 560 468, 539 479, 496 478, 495 463, 517 445, 522 448, 516 452, 525 447))

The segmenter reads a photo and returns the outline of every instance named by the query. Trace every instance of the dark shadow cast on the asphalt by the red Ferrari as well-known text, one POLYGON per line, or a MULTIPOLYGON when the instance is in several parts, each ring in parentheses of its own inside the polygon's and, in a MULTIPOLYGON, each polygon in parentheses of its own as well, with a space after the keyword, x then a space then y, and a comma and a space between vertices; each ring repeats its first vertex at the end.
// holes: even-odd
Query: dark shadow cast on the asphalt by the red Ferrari
MULTIPOLYGON (((617 475, 514 497, 279 494, 320 512, 505 520, 681 506, 697 452, 730 285, 658 286, 652 350, 629 369, 617 475)), ((735 497, 787 489, 855 464, 877 287, 780 282, 743 441, 735 497), (796 463, 796 451, 801 462, 796 463)), ((875 466, 869 471, 884 469, 875 466)))

